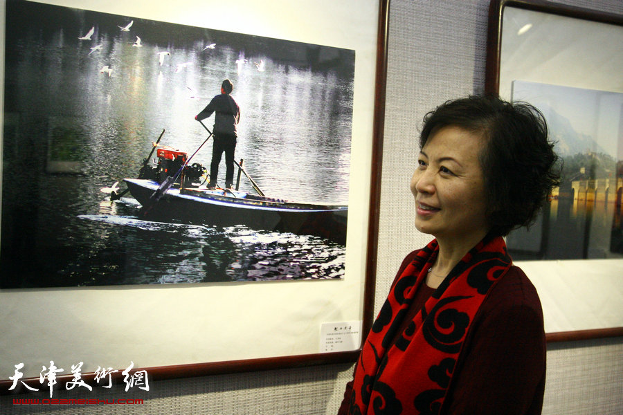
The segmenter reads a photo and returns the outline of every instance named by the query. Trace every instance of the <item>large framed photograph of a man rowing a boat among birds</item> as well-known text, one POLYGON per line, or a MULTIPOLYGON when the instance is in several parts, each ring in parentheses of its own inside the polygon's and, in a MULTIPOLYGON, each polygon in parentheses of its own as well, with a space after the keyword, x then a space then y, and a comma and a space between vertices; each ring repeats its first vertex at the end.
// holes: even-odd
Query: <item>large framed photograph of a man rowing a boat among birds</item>
POLYGON ((356 359, 388 1, 294 4, 7 1, 3 392, 51 361, 157 380, 356 359), (233 183, 227 153, 210 172, 222 95, 233 183))

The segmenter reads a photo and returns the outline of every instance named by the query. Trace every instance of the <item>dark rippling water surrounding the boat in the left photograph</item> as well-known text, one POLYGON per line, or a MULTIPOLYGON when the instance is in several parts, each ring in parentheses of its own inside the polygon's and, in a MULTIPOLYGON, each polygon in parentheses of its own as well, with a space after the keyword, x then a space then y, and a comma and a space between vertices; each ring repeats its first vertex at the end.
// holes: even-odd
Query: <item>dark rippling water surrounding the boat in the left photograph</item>
MULTIPOLYGON (((163 129, 161 144, 192 154, 207 136, 194 116, 228 78, 242 110, 236 158, 264 193, 346 205, 353 76, 350 50, 9 2, 1 286, 341 277, 344 246, 145 223, 136 201, 100 188, 136 177, 163 129)), ((192 163, 210 156, 208 144, 192 163)))

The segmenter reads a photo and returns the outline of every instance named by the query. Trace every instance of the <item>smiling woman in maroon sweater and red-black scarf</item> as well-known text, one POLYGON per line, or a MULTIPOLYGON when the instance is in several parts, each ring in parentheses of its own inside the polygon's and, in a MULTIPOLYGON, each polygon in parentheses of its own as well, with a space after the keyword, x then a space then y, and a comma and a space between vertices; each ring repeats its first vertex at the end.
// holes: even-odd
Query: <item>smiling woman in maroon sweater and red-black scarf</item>
POLYGON ((401 264, 340 414, 541 414, 543 311, 503 236, 529 225, 559 169, 541 113, 495 97, 424 117, 410 188, 435 239, 401 264))

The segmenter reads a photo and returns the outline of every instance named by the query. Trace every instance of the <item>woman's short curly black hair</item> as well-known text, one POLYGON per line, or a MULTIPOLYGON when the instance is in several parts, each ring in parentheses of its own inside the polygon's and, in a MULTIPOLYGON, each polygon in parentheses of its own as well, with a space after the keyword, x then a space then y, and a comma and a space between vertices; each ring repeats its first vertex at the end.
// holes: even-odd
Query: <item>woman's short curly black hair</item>
POLYGON ((559 157, 548 140, 543 113, 527 102, 506 102, 496 95, 451 100, 424 116, 420 148, 442 127, 481 134, 479 154, 487 194, 489 234, 505 236, 529 226, 560 184, 559 157))

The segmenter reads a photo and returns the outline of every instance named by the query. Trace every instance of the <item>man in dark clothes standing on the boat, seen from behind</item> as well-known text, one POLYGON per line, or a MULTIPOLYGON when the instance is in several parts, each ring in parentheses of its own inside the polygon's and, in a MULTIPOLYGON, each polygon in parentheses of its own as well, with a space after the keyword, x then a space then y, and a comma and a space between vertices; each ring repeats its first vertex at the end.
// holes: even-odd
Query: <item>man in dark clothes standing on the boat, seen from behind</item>
POLYGON ((214 140, 212 147, 212 164, 210 165, 210 182, 208 188, 217 185, 219 164, 223 151, 225 152, 225 188, 231 189, 233 183, 234 153, 238 137, 237 125, 240 122, 240 107, 231 96, 233 84, 230 80, 224 80, 221 84, 221 93, 216 95, 203 111, 195 116, 195 120, 201 121, 215 113, 214 116, 214 140))

